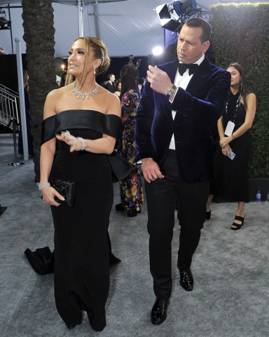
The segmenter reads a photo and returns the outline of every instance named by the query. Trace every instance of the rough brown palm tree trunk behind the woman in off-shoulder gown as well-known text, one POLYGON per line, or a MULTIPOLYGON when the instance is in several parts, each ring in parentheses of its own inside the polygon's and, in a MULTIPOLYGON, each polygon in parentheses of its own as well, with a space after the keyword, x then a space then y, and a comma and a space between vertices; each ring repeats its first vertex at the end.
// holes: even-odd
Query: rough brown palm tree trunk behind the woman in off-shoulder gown
POLYGON ((40 143, 43 105, 46 95, 56 88, 52 0, 22 0, 22 19, 29 74, 29 101, 34 138, 35 181, 40 178, 40 143))

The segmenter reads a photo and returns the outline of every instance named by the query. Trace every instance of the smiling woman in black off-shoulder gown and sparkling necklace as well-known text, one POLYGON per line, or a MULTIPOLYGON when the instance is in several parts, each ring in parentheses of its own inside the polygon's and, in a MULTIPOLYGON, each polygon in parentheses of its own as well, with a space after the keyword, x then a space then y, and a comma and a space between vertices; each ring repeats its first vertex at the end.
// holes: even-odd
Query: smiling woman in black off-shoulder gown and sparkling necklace
POLYGON ((67 86, 51 91, 44 105, 39 190, 53 213, 55 303, 69 329, 81 324, 83 311, 92 329, 106 326, 106 232, 113 204, 107 154, 121 121, 118 98, 98 86, 95 75, 106 72, 109 63, 100 39, 79 37, 69 51, 67 86), (63 197, 50 186, 53 179, 76 182, 73 207, 55 201, 63 197))

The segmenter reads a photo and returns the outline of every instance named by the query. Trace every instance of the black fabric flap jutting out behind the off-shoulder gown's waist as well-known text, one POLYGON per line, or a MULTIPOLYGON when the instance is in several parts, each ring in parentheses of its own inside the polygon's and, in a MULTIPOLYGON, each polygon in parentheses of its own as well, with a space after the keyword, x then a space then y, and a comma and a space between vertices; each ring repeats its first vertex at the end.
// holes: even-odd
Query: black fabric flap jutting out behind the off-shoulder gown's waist
POLYGON ((111 166, 113 183, 123 180, 135 169, 135 166, 130 164, 129 161, 116 151, 113 151, 107 157, 111 166))

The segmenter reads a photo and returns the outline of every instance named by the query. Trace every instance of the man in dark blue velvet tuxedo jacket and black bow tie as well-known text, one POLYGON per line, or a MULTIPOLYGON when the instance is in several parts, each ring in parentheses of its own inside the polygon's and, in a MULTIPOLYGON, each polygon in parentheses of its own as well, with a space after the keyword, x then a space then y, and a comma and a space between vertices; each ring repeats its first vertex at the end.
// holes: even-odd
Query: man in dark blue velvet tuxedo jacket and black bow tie
POLYGON ((181 227, 179 284, 193 290, 191 261, 205 221, 214 162, 211 128, 221 117, 230 74, 209 63, 211 27, 188 20, 177 43, 178 60, 149 66, 135 124, 137 161, 142 159, 148 206, 149 257, 156 301, 151 322, 162 323, 172 291, 174 210, 181 227))

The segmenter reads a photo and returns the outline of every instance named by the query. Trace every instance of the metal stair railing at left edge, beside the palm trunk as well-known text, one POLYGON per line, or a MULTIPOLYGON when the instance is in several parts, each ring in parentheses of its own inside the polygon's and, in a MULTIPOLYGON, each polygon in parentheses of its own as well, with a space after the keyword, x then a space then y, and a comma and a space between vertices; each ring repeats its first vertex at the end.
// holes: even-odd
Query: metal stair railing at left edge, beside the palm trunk
POLYGON ((13 130, 16 124, 11 121, 19 123, 19 106, 19 94, 0 84, 0 124, 13 130))

